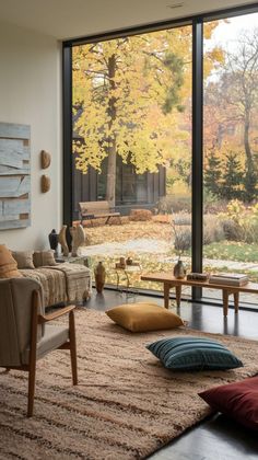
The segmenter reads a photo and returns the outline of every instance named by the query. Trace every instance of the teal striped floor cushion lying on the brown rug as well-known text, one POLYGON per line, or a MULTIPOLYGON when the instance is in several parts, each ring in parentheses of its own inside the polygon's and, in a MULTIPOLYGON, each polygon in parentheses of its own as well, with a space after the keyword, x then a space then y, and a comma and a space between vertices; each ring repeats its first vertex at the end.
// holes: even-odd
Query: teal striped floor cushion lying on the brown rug
POLYGON ((167 337, 146 348, 164 367, 175 370, 219 370, 242 367, 243 363, 220 342, 203 337, 167 337))

